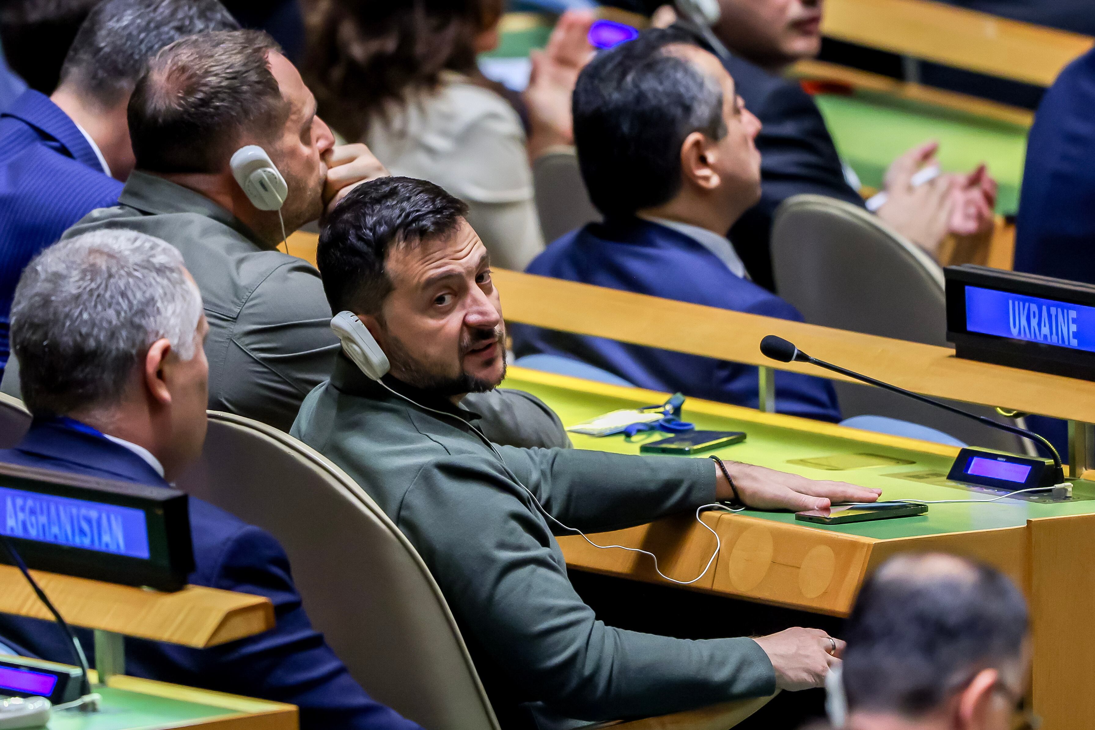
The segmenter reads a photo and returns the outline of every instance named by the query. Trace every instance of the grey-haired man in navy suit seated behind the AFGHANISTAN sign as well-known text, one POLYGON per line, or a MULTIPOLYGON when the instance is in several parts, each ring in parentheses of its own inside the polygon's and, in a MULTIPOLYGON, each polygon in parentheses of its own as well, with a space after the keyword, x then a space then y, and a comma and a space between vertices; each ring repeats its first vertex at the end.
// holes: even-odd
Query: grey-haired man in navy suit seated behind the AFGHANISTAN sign
MULTIPOLYGON (((12 308, 34 422, 0 461, 169 486, 205 441, 208 329, 197 286, 163 241, 97 231, 50 247, 27 266, 12 308)), ((372 700, 312 628, 272 535, 193 497, 189 520, 188 582, 265 595, 277 623, 211 649, 129 639, 127 673, 291 703, 304 729, 420 730, 372 700)), ((90 631, 78 633, 91 641, 90 631)), ((0 642, 48 660, 71 657, 43 621, 0 615, 0 642)))

